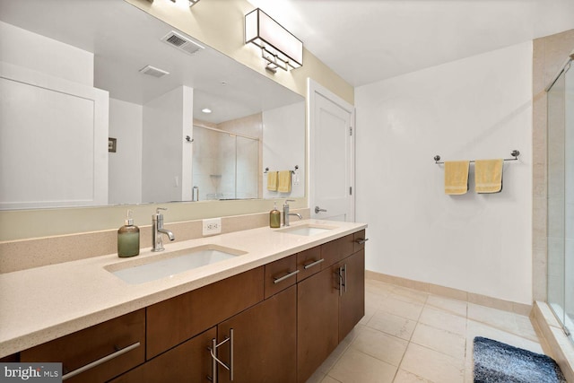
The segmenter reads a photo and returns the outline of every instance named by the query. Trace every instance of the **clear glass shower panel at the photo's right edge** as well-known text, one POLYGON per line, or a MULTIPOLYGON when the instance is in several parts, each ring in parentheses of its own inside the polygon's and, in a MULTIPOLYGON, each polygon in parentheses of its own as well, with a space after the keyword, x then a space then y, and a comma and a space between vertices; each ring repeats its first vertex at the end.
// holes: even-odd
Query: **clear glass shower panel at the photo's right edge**
MULTIPOLYGON (((548 303, 574 332, 574 66, 546 89, 548 100, 548 303)), ((572 337, 570 336, 570 339, 572 337)))

